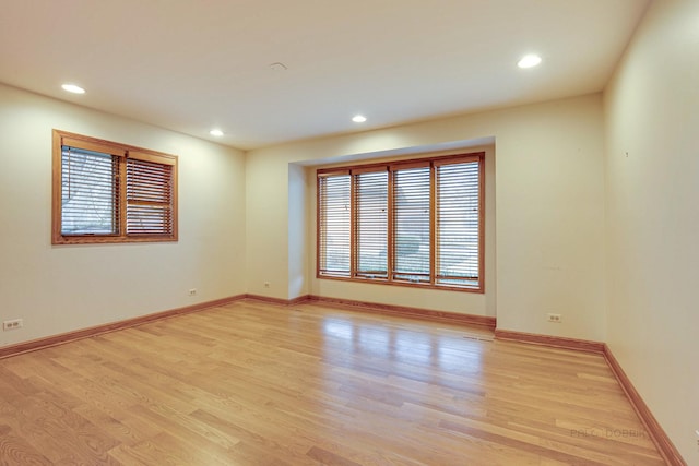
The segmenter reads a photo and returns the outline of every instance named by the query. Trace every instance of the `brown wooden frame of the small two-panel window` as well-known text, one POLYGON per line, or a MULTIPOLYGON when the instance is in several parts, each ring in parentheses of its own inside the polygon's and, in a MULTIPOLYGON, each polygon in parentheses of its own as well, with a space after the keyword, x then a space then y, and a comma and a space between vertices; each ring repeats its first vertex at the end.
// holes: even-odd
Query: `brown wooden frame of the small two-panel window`
MULTIPOLYGON (((69 133, 52 131, 52 199, 51 199, 51 243, 52 244, 94 244, 94 243, 127 243, 127 242, 171 242, 178 240, 178 205, 177 205, 177 160, 176 155, 151 151, 147 148, 69 133), (117 160, 118 172, 112 180, 115 189, 115 218, 117 222, 114 234, 75 234, 62 232, 62 148, 75 147, 83 151, 109 154, 117 160), (169 210, 171 226, 165 234, 129 234, 127 228, 127 160, 141 160, 162 166, 170 166, 169 203, 153 203, 169 210)), ((147 204, 147 202, 134 202, 147 204)))

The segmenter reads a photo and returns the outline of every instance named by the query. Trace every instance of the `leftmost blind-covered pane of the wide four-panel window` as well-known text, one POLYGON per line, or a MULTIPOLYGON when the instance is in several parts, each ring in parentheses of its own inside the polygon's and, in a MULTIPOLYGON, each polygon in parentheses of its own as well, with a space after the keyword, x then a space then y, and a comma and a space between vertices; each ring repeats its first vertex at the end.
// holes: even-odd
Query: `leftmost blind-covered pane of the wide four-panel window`
POLYGON ((350 175, 318 179, 319 273, 350 276, 350 175))

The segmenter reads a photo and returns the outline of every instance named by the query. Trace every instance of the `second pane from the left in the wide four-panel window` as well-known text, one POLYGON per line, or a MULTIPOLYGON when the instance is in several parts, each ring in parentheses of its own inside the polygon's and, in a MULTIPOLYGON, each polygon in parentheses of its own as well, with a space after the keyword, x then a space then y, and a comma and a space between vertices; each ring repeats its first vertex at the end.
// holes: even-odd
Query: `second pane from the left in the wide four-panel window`
POLYGON ((388 171, 355 175, 357 275, 388 276, 388 171))

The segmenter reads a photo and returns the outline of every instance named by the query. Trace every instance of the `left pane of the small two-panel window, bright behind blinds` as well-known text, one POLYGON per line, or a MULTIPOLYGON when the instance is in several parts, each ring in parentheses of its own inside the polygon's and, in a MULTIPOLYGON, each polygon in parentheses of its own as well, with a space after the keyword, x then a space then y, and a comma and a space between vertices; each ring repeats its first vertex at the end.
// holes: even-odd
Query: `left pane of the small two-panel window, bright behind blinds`
POLYGON ((118 234, 116 170, 110 154, 62 147, 61 235, 118 234))

